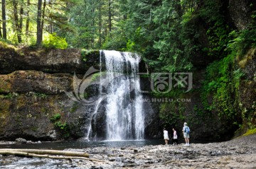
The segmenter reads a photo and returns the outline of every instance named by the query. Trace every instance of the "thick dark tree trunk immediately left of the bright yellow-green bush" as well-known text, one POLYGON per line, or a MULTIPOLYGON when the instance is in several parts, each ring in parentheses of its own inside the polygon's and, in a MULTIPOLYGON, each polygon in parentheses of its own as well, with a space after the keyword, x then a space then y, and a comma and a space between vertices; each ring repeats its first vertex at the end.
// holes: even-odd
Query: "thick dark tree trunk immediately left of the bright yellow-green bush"
POLYGON ((38 15, 36 18, 36 45, 41 46, 43 31, 41 30, 42 0, 38 0, 38 15))

